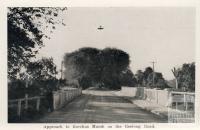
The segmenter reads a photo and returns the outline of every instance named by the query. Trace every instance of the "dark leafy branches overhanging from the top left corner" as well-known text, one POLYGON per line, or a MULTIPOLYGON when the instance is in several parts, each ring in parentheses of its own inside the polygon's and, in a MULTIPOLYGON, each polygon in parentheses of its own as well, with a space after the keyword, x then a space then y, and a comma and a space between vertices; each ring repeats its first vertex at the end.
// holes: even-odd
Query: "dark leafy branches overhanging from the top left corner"
MULTIPOLYGON (((44 46, 43 39, 50 38, 44 30, 55 29, 62 23, 55 19, 66 8, 10 7, 8 8, 8 77, 16 79, 22 67, 44 46)), ((64 25, 64 23, 62 23, 64 25)))

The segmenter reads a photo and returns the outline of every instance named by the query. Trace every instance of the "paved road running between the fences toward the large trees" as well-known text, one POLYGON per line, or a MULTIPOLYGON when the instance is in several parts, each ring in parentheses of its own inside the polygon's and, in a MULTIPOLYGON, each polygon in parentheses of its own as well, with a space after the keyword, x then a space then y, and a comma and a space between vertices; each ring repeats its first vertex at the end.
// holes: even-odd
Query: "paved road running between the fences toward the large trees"
POLYGON ((83 91, 64 108, 54 111, 37 122, 41 123, 153 123, 165 119, 142 110, 114 91, 90 88, 83 91))

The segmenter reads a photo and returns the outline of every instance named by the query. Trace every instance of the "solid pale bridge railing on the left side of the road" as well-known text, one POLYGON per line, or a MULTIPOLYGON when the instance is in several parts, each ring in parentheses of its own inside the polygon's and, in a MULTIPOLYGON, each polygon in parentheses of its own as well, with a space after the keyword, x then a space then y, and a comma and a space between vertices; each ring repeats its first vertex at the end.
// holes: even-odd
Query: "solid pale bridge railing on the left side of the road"
POLYGON ((60 91, 53 92, 53 108, 57 110, 65 106, 69 101, 81 95, 81 88, 63 88, 60 91))

